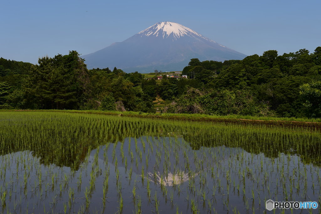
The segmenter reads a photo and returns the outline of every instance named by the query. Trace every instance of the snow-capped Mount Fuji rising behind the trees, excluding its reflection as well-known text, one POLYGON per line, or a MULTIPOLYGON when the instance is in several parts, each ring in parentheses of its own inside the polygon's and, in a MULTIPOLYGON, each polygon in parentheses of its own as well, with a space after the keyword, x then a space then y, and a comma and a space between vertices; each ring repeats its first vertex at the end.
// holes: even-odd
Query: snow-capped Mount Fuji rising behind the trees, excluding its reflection
POLYGON ((82 56, 88 68, 117 67, 126 72, 182 70, 190 59, 242 60, 246 55, 174 22, 159 22, 123 42, 82 56))

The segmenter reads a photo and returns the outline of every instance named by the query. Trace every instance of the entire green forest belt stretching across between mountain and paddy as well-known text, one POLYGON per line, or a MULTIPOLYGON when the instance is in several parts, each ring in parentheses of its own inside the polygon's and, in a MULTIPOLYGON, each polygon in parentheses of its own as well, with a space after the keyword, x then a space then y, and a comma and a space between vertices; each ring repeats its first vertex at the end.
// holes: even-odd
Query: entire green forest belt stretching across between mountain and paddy
POLYGON ((191 59, 185 78, 88 70, 77 51, 37 65, 0 58, 0 109, 79 109, 210 115, 321 117, 321 47, 243 60, 191 59))

